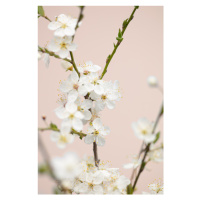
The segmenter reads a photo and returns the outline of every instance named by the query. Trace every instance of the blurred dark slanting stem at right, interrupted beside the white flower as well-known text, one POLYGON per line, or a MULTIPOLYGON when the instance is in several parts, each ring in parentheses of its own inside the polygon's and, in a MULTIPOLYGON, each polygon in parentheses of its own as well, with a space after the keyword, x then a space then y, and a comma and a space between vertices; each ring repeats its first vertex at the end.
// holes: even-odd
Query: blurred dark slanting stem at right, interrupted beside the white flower
MULTIPOLYGON (((155 129, 156 129, 156 127, 157 127, 157 125, 158 125, 158 122, 159 122, 159 120, 160 120, 160 118, 161 118, 162 115, 163 115, 163 103, 162 103, 161 109, 160 109, 160 111, 159 111, 159 113, 158 113, 158 116, 157 116, 157 118, 156 118, 156 121, 155 121, 153 130, 152 130, 152 134, 155 133, 155 129)), ((136 184, 137 184, 138 179, 139 179, 139 177, 140 177, 140 174, 143 172, 143 170, 144 170, 144 168, 145 168, 145 165, 146 165, 145 158, 146 158, 146 156, 147 156, 147 153, 148 153, 149 150, 150 150, 150 145, 151 145, 151 143, 148 143, 147 146, 146 146, 146 148, 145 148, 145 153, 144 153, 143 158, 142 158, 142 164, 140 165, 140 169, 139 169, 139 171, 138 171, 138 174, 137 174, 137 176, 136 176, 136 178, 135 178, 135 181, 134 181, 134 184, 133 184, 133 192, 135 191, 135 187, 136 187, 136 184)))

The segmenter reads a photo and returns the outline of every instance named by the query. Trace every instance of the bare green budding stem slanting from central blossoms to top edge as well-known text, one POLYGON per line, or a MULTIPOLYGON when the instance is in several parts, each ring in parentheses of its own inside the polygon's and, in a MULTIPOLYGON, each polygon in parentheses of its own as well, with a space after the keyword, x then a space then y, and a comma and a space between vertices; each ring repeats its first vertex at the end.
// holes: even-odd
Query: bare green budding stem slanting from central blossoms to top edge
MULTIPOLYGON (((122 26, 122 32, 121 32, 121 33, 122 33, 122 36, 124 35, 124 32, 125 32, 126 28, 128 27, 130 21, 133 19, 134 13, 135 13, 135 11, 136 11, 138 8, 139 8, 139 6, 135 6, 135 7, 134 7, 134 9, 133 9, 133 11, 132 11, 130 17, 128 18, 128 21, 126 22, 125 25, 122 26)), ((120 41, 118 40, 118 42, 117 42, 116 45, 114 44, 113 52, 108 56, 108 58, 107 58, 107 60, 106 60, 106 65, 105 65, 104 70, 103 70, 103 72, 102 72, 102 74, 101 74, 101 76, 100 76, 100 79, 102 79, 102 78, 104 77, 105 73, 107 72, 108 65, 110 64, 110 61, 112 60, 112 58, 113 58, 113 56, 114 56, 114 54, 115 54, 117 48, 118 48, 119 45, 121 44, 122 39, 123 39, 123 38, 121 38, 120 41)))

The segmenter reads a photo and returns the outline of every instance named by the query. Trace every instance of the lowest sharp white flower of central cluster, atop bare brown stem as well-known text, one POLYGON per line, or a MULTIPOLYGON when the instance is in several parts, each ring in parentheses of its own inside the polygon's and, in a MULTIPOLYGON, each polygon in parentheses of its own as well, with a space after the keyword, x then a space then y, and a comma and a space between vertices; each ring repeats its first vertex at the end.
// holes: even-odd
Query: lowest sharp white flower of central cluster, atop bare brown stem
POLYGON ((96 118, 92 122, 92 125, 88 127, 87 136, 84 141, 86 144, 96 142, 98 146, 103 146, 105 144, 104 136, 109 133, 110 129, 103 126, 100 118, 96 118))

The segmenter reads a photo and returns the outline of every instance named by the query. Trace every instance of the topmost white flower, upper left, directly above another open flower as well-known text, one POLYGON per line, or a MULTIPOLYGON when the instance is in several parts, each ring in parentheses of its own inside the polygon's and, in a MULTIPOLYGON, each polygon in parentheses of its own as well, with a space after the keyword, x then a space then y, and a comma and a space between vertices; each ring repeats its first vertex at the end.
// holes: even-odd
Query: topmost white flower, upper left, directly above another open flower
POLYGON ((55 21, 49 23, 48 28, 55 31, 54 35, 58 37, 64 37, 65 35, 73 36, 75 34, 76 24, 77 19, 61 14, 56 17, 55 21))

